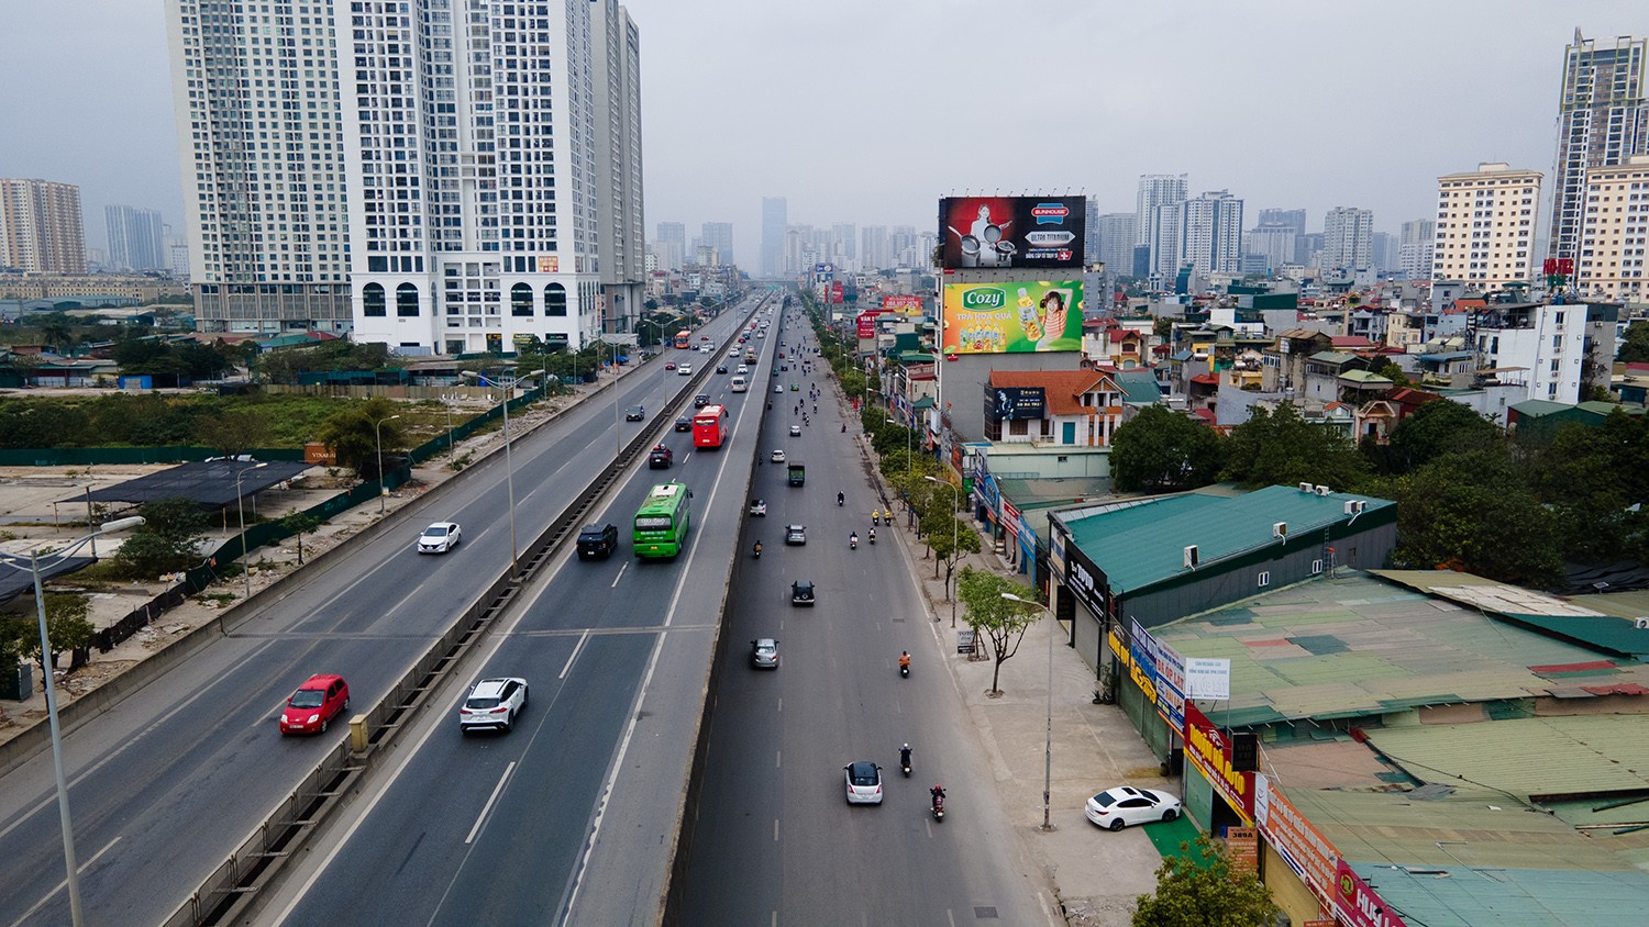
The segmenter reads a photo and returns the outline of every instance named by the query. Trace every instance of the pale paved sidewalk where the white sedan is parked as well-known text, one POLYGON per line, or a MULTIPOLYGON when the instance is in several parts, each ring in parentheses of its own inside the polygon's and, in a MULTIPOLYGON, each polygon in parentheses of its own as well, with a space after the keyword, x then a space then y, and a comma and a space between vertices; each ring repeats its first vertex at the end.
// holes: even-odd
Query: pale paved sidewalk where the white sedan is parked
MULTIPOLYGON (((869 456, 862 435, 857 441, 861 451, 869 456)), ((1021 827, 1031 858, 1052 883, 1067 920, 1078 927, 1126 927, 1135 899, 1156 891, 1156 868, 1163 856, 1148 832, 1179 827, 1179 822, 1131 827, 1113 833, 1088 823, 1083 804, 1093 794, 1113 785, 1176 790, 1174 782, 1161 776, 1156 756, 1135 733, 1121 708, 1093 703, 1097 688, 1093 670, 1073 649, 1064 645, 1069 631, 1064 626, 1055 631, 1045 616, 1026 631, 1019 652, 1003 664, 999 683, 1003 695, 988 696, 994 664, 991 659, 970 660, 956 654, 943 565, 940 578, 935 580, 933 560, 923 558, 927 547, 917 540, 915 532, 899 525, 892 533, 909 555, 915 578, 927 594, 928 611, 938 622, 935 631, 940 632, 942 657, 956 677, 975 734, 991 757, 991 774, 1003 810, 1021 827), (1054 830, 1042 832, 1050 642, 1054 710, 1049 820, 1054 830)), ((965 557, 956 565, 956 573, 963 566, 1027 581, 1027 576, 1011 570, 993 552, 965 557)), ((966 627, 960 606, 956 626, 966 627)), ((1176 838, 1167 850, 1177 853, 1177 846, 1176 838)))

